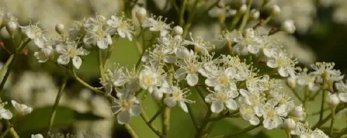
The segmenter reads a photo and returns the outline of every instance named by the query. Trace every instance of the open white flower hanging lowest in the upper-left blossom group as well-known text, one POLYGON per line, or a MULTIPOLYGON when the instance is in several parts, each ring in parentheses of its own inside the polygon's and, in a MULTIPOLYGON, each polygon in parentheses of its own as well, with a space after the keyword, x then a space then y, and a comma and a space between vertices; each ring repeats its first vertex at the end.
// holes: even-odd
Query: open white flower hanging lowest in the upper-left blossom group
POLYGON ((77 48, 77 44, 70 43, 66 45, 58 44, 56 45, 56 50, 61 55, 58 57, 58 64, 66 65, 70 62, 72 58, 72 64, 76 69, 82 65, 82 59, 79 56, 88 55, 89 51, 83 49, 82 47, 77 48))

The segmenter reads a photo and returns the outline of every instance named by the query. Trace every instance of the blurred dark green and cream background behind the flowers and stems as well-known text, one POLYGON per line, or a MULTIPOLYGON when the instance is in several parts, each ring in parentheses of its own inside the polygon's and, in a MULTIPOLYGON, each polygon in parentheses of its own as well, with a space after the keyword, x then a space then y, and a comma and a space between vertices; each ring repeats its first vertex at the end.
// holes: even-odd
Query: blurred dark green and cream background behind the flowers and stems
MULTIPOLYGON (((65 28, 71 27, 72 20, 81 20, 84 17, 94 17, 96 13, 109 17, 112 14, 121 14, 123 11, 132 13, 138 6, 144 6, 147 13, 168 17, 167 23, 178 23, 178 15, 173 9, 173 3, 180 7, 181 0, 0 0, 0 7, 4 11, 10 12, 20 25, 27 25, 30 19, 33 23, 40 22, 40 27, 45 28, 46 35, 57 36, 55 26, 62 23, 65 28), (125 2, 137 2, 134 9, 124 9, 125 2)), ((192 3, 195 0, 187 0, 188 8, 184 15, 190 12, 192 3)), ((231 3, 239 3, 245 0, 227 0, 231 3)), ((254 0, 252 7, 256 8, 262 0, 254 0)), ((296 32, 293 35, 278 33, 272 37, 278 39, 280 43, 293 53, 300 62, 299 66, 308 67, 314 62, 335 62, 336 69, 347 73, 347 0, 270 0, 267 6, 261 10, 260 18, 267 17, 268 7, 278 4, 282 11, 265 27, 260 30, 270 30, 271 27, 279 27, 286 19, 295 21, 296 32)), ((214 6, 216 0, 200 0, 193 18, 191 32, 199 34, 206 40, 214 40, 221 30, 219 17, 222 13, 218 6, 214 6), (207 9, 213 7, 208 12, 207 9), (209 15, 209 16, 206 16, 209 15)), ((238 5, 231 5, 237 7, 238 5)), ((6 12, 5 12, 6 13, 6 12)), ((0 15, 4 18, 7 14, 0 15)), ((138 27, 135 17, 132 18, 138 27)), ((185 16, 185 18, 187 18, 185 16)), ((226 17, 226 22, 231 21, 231 17, 226 17)), ((0 20, 1 21, 1 20, 0 20)), ((257 22, 250 22, 253 26, 257 22)), ((175 25, 172 25, 172 27, 175 25)), ((4 45, 10 44, 9 35, 5 28, 0 31, 0 41, 4 45)), ((37 47, 32 43, 27 47, 28 55, 22 55, 16 63, 10 78, 5 84, 5 93, 2 93, 2 101, 16 100, 34 107, 34 111, 20 119, 14 127, 22 138, 28 138, 31 134, 44 134, 48 128, 48 121, 51 107, 55 102, 58 88, 61 83, 63 72, 50 63, 40 64, 33 53, 37 47)), ((116 51, 113 53, 110 63, 118 63, 121 66, 133 66, 137 62, 139 55, 136 52, 134 42, 127 39, 119 39, 116 43, 116 51)), ((223 50, 223 47, 219 50, 223 50)), ((95 87, 100 87, 96 53, 92 52, 85 56, 83 64, 77 70, 78 75, 86 82, 95 87)), ((0 68, 9 57, 6 50, 0 48, 0 68)), ((2 77, 0 77, 2 79, 2 77)), ((194 93, 189 96, 191 99, 199 101, 194 93)), ((317 101, 320 101, 317 99, 317 101)), ((57 110, 54 129, 52 134, 73 134, 77 138, 82 138, 81 132, 93 132, 100 134, 102 138, 130 138, 122 126, 117 125, 115 116, 110 110, 111 105, 103 95, 84 88, 73 79, 68 80, 60 106, 57 110)), ((143 106, 147 115, 152 116, 157 111, 155 104, 148 97, 143 106)), ((194 114, 198 119, 203 119, 205 106, 200 102, 193 105, 194 114)), ((312 112, 318 110, 311 104, 312 112)), ((179 108, 173 108, 171 112, 171 133, 172 138, 192 138, 195 129, 190 121, 189 115, 179 108)), ((317 117, 312 117, 315 122, 317 117)), ((329 121, 328 121, 329 122, 329 121)), ((338 124, 345 127, 345 121, 338 124)), ((161 119, 158 118, 154 124, 161 128, 161 119)), ((241 119, 224 119, 216 123, 215 130, 210 136, 228 134, 233 131, 247 127, 249 124, 241 119)), ((133 117, 131 126, 140 138, 156 138, 155 134, 147 128, 141 117, 133 117)), ((3 126, 2 126, 3 128, 3 126)), ((1 129, 1 128, 0 128, 1 129)), ((265 130, 262 128, 253 130, 238 138, 280 138, 286 137, 282 130, 265 130)))

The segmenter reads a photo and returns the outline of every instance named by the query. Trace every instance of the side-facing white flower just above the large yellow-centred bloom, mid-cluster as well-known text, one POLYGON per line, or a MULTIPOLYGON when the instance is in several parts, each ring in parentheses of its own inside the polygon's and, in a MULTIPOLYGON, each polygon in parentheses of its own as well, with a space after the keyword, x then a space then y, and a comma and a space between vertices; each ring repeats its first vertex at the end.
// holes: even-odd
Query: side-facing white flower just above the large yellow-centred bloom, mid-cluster
POLYGON ((176 58, 170 55, 168 50, 165 50, 162 46, 157 46, 149 53, 149 55, 144 55, 141 58, 142 62, 148 62, 153 67, 163 66, 165 63, 173 63, 176 58))

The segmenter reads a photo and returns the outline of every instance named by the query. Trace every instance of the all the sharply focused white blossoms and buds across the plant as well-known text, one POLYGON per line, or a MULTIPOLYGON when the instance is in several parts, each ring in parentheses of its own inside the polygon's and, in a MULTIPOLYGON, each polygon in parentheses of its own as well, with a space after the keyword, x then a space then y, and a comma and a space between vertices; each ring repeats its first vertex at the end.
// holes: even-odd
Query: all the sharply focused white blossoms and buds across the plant
MULTIPOLYGON (((218 16, 235 14, 241 17, 245 14, 258 18, 259 9, 250 10, 250 5, 246 5, 245 1, 239 1, 240 10, 236 13, 233 13, 230 7, 226 7, 228 13, 216 12, 218 16), (240 11, 242 13, 239 13, 240 11)), ((279 11, 276 6, 273 9, 274 14, 279 11)), ((141 57, 132 69, 116 64, 113 69, 104 69, 107 66, 103 64, 107 62, 101 62, 100 51, 112 52, 111 46, 118 37, 130 41, 138 39, 131 20, 124 16, 112 15, 107 18, 97 14, 95 18, 73 22, 74 26, 66 31, 62 24, 58 24, 57 38, 46 37, 37 24, 21 27, 21 31, 40 48, 40 51, 34 53, 38 62, 52 61, 62 65, 64 69, 72 69, 73 77, 80 82, 82 80, 79 80, 73 69, 81 67, 82 56, 97 50, 100 54, 98 61, 100 83, 103 87, 93 90, 102 91, 110 98, 110 108, 119 124, 129 124, 133 116, 144 116, 141 101, 145 97, 139 98, 142 92, 143 95, 149 93, 154 101, 164 108, 178 105, 184 112, 192 112, 187 104, 194 104, 195 101, 190 100, 188 88, 195 88, 208 106, 207 119, 211 117, 208 114, 212 113, 218 116, 237 114, 253 126, 262 125, 269 130, 282 128, 300 138, 329 138, 321 130, 316 128, 312 131, 309 125, 305 125, 305 108, 311 94, 306 95, 306 101, 302 101, 304 105, 296 105, 294 103, 297 99, 291 98, 285 91, 281 79, 273 78, 274 75, 287 78, 293 90, 296 84, 299 84, 312 93, 329 91, 325 101, 334 108, 333 114, 341 101, 347 102, 347 84, 342 82, 342 73, 333 69, 333 63, 316 63, 311 66, 313 71, 310 72, 308 69, 298 68, 297 60, 276 40, 269 37, 278 31, 294 33, 296 28, 293 21, 285 21, 279 28, 272 29, 267 34, 261 34, 256 27, 221 31, 216 40, 220 42, 218 45, 228 45, 230 54, 217 55, 213 52, 215 45, 201 36, 193 37, 180 26, 172 28, 162 16, 146 16, 144 8, 139 8, 135 16, 141 24, 141 30, 146 31, 148 28, 152 33, 152 39, 148 46, 145 46, 146 40, 143 37, 141 57), (185 39, 187 34, 190 39, 185 39), (194 50, 189 49, 190 46, 193 46, 194 50), (263 70, 260 70, 261 68, 263 70), (333 89, 334 82, 337 92, 333 89)), ((247 21, 245 19, 247 18, 243 21, 247 21)), ((15 22, 9 21, 6 27, 9 28, 13 23, 15 22)), ((32 111, 31 107, 24 104, 15 101, 11 103, 21 115, 32 111)), ((12 114, 8 110, 1 109, 2 118, 11 118, 12 114)), ((144 120, 147 125, 153 121, 144 120)))

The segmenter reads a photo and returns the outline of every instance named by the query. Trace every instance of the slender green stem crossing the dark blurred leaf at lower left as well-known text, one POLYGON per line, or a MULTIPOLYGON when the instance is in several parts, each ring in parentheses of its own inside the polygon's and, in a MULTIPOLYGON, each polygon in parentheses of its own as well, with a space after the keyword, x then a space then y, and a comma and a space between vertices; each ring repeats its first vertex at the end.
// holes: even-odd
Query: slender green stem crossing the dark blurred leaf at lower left
POLYGON ((60 101, 60 98, 62 96, 62 92, 65 88, 65 85, 66 85, 66 82, 67 82, 67 79, 69 78, 68 75, 66 75, 62 81, 62 84, 59 88, 59 91, 58 91, 58 95, 56 97, 56 102, 54 103, 54 106, 53 106, 53 110, 52 110, 52 113, 51 113, 51 117, 50 117, 50 120, 49 120, 49 124, 48 124, 48 131, 47 131, 47 135, 46 135, 46 138, 49 138, 49 134, 50 134, 50 131, 52 129, 52 126, 53 126, 53 122, 54 122, 54 119, 56 117, 56 112, 57 112, 57 107, 58 107, 58 104, 59 104, 59 101, 60 101))

